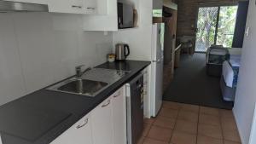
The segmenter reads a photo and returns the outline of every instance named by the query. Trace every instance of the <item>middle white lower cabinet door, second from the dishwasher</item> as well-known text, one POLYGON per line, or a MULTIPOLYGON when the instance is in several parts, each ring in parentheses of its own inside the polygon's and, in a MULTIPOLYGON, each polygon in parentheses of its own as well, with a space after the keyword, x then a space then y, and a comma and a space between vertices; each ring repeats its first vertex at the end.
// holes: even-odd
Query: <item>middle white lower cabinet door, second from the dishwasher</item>
POLYGON ((111 97, 109 97, 91 112, 94 144, 113 144, 113 119, 111 107, 112 101, 111 97))

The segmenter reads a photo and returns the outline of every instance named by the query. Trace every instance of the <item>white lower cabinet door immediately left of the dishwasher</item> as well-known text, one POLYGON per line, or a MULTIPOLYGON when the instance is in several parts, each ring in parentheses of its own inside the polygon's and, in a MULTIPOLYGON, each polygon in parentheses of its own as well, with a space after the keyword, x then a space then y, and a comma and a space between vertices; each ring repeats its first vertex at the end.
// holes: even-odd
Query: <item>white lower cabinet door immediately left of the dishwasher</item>
POLYGON ((112 95, 113 144, 126 143, 125 87, 112 95))

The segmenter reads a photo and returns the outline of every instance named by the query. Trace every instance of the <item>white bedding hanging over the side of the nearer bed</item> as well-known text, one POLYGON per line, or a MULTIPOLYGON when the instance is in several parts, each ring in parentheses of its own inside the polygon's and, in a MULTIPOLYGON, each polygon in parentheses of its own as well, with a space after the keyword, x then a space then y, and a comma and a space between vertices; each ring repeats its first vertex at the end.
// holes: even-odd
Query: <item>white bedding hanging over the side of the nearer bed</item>
POLYGON ((233 87, 234 71, 228 61, 224 61, 222 66, 222 75, 226 85, 230 88, 233 87))

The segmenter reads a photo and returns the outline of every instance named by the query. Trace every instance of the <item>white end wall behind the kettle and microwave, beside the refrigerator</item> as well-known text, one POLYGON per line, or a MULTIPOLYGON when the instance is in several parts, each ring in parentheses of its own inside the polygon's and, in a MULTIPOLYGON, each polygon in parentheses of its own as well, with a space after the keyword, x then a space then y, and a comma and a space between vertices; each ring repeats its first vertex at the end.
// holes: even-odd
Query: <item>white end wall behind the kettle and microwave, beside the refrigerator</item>
POLYGON ((151 60, 152 0, 134 0, 138 12, 138 27, 113 32, 113 46, 128 43, 131 49, 129 60, 151 60))

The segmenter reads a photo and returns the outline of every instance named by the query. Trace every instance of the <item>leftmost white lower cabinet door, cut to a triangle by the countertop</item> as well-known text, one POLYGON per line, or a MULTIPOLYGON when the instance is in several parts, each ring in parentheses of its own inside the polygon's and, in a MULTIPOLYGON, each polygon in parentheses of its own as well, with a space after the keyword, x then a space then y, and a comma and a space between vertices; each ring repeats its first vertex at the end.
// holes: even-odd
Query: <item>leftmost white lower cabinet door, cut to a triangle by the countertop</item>
POLYGON ((79 120, 50 144, 93 144, 90 114, 79 120))

